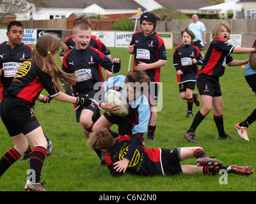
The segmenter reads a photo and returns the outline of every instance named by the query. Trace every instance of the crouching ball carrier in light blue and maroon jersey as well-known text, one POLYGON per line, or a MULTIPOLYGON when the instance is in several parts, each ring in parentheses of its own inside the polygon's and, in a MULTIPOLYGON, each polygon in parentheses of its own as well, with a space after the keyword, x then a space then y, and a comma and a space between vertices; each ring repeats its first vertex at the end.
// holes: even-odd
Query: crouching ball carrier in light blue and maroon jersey
MULTIPOLYGON (((125 135, 134 135, 131 147, 127 155, 120 161, 118 166, 126 168, 132 158, 136 147, 143 141, 143 134, 147 133, 148 122, 150 121, 151 111, 150 100, 148 98, 148 87, 150 78, 144 71, 134 67, 127 75, 118 75, 104 82, 102 91, 115 89, 121 91, 127 98, 129 104, 129 114, 122 117, 115 115, 117 105, 101 103, 101 108, 107 110, 93 126, 93 131, 99 128, 110 128, 113 124, 118 125, 118 133, 125 135)), ((101 94, 104 96, 104 93, 101 94)), ((105 159, 104 159, 105 161, 105 159)))

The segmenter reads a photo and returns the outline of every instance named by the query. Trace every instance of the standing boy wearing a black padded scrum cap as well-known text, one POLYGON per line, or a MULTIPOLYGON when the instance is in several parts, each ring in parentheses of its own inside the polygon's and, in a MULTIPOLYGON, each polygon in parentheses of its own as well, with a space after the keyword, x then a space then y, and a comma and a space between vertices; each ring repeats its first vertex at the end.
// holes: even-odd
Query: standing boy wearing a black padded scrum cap
POLYGON ((150 77, 150 96, 154 112, 148 126, 146 140, 154 140, 156 131, 157 111, 156 103, 159 96, 160 68, 166 64, 166 50, 163 39, 154 31, 157 18, 154 13, 146 12, 140 17, 142 31, 132 35, 132 41, 127 48, 129 54, 134 54, 133 67, 143 69, 150 77))

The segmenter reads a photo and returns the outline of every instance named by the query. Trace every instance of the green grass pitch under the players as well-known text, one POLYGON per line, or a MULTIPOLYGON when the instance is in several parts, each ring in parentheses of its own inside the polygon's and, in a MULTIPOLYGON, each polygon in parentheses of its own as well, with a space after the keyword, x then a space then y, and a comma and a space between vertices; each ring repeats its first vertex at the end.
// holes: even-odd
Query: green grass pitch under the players
MULTIPOLYGON (((112 57, 120 57, 122 69, 127 73, 129 54, 126 48, 110 48, 112 57)), ((175 68, 172 65, 173 50, 167 50, 168 63, 161 69, 163 82, 163 109, 158 112, 156 141, 146 147, 191 147, 183 135, 193 119, 184 118, 186 101, 180 99, 175 68)), ((234 59, 246 59, 247 55, 235 55, 234 59)), ((216 156, 223 165, 252 165, 256 168, 256 126, 249 129, 250 142, 244 142, 234 131, 237 122, 244 120, 255 108, 255 95, 243 76, 241 67, 226 68, 220 78, 224 103, 225 131, 232 140, 217 140, 218 133, 209 113, 196 129, 196 146, 203 147, 209 156, 216 156)), ((43 91, 47 95, 47 92, 43 91)), ((193 106, 195 114, 202 106, 193 106)), ((138 177, 124 174, 113 178, 108 168, 100 167, 99 159, 86 145, 86 138, 76 122, 73 105, 52 101, 51 104, 36 103, 35 115, 45 133, 51 138, 54 152, 45 158, 42 179, 47 191, 255 191, 256 173, 249 177, 228 175, 228 184, 220 184, 221 175, 177 175, 175 177, 138 177)), ((113 128, 116 130, 116 126, 113 128)), ((0 154, 12 147, 3 122, 0 122, 0 154)), ((181 164, 195 164, 195 159, 181 164)), ((4 173, 0 191, 24 191, 29 162, 20 160, 4 173)))

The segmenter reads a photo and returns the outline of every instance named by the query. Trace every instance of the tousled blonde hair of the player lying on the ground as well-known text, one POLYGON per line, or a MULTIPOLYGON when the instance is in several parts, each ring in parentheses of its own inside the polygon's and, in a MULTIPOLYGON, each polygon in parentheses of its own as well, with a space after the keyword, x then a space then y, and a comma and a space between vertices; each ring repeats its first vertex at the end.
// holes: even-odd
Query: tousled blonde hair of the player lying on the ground
POLYGON ((87 145, 91 149, 106 149, 109 150, 114 144, 114 138, 108 128, 99 128, 90 133, 87 139, 87 145))

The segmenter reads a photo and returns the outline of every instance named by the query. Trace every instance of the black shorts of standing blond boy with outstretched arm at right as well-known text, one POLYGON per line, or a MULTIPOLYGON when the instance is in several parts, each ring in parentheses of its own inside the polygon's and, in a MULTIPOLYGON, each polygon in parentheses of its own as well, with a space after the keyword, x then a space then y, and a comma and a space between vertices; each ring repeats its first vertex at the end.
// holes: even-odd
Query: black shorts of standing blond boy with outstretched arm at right
POLYGON ((196 86, 200 95, 212 97, 221 96, 220 82, 218 77, 212 77, 201 73, 196 78, 196 86))

